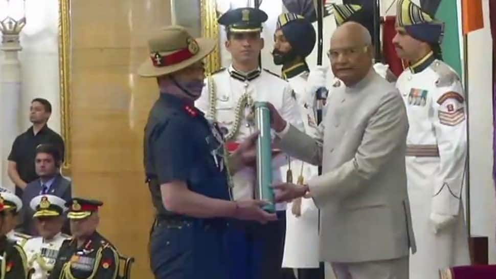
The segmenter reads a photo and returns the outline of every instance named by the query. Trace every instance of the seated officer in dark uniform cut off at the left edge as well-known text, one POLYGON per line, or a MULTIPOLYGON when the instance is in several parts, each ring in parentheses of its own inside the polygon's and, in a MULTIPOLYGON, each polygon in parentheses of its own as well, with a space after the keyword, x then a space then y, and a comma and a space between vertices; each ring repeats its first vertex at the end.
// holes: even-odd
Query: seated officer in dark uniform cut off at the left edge
POLYGON ((4 226, 9 226, 6 216, 9 205, 3 198, 6 192, 0 193, 0 278, 27 279, 26 254, 18 244, 8 239, 4 226), (7 208, 6 208, 7 207, 7 208))

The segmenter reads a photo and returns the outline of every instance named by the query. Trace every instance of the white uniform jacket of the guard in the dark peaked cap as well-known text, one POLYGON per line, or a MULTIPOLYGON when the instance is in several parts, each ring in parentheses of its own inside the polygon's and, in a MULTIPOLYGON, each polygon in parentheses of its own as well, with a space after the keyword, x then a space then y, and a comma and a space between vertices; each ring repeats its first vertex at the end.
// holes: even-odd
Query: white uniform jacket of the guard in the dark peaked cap
MULTIPOLYGON (((260 71, 259 75, 252 75, 250 80, 245 81, 232 77, 231 73, 236 73, 232 65, 208 77, 201 97, 195 102, 195 106, 205 112, 207 119, 219 123, 221 131, 228 136, 228 142, 240 143, 255 132, 254 121, 253 123, 250 121, 252 110, 250 106, 244 104, 256 101, 272 103, 284 119, 303 130, 298 105, 288 82, 266 70, 260 71), (236 121, 238 113, 240 117, 239 121, 236 121), (239 125, 237 133, 235 133, 236 124, 239 125), (230 134, 233 133, 230 139, 230 134)), ((273 183, 285 181, 285 174, 281 174, 279 168, 286 164, 286 155, 280 154, 274 157, 272 163, 273 183)), ((244 167, 234 174, 232 179, 234 200, 253 198, 256 182, 254 167, 244 167)), ((285 210, 285 208, 284 203, 276 205, 277 210, 285 210)))

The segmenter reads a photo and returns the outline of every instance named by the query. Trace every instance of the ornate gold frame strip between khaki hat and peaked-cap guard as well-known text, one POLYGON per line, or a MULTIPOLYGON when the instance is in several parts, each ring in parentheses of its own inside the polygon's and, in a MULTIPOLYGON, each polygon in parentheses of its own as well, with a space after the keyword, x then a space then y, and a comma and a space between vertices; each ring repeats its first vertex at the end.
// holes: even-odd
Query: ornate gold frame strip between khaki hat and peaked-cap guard
MULTIPOLYGON (((201 0, 201 36, 206 38, 219 39, 219 24, 217 23, 216 0, 201 0)), ((220 69, 219 46, 205 58, 205 68, 207 74, 211 74, 220 69)))

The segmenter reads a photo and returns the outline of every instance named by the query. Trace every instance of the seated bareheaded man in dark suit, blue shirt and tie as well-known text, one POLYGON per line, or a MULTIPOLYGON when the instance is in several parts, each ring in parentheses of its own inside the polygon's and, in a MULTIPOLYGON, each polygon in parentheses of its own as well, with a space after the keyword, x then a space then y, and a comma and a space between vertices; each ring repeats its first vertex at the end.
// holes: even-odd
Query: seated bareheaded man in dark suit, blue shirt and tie
MULTIPOLYGON (((65 201, 70 201, 72 197, 71 181, 60 175, 60 164, 62 158, 59 149, 50 144, 41 144, 36 148, 35 169, 38 179, 28 183, 22 194, 22 202, 29 202, 39 195, 54 195, 65 201)), ((22 231, 30 235, 38 235, 38 231, 33 223, 33 210, 29 206, 23 208, 22 231)), ((69 232, 69 224, 62 228, 62 232, 69 232)))

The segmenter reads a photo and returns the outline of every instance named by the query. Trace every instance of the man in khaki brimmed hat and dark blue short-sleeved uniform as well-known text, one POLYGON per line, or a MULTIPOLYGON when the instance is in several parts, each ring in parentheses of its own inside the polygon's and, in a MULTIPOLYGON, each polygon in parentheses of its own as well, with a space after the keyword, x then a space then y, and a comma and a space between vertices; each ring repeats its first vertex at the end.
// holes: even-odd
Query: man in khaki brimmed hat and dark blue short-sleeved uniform
POLYGON ((228 158, 217 123, 194 106, 204 85, 202 59, 215 41, 193 38, 180 26, 157 31, 139 68, 155 77, 160 97, 145 128, 144 163, 156 211, 150 262, 157 279, 228 277, 224 232, 231 218, 276 219, 262 201, 231 200, 231 176, 254 161, 256 135, 228 158), (228 163, 229 162, 229 163, 228 163))

